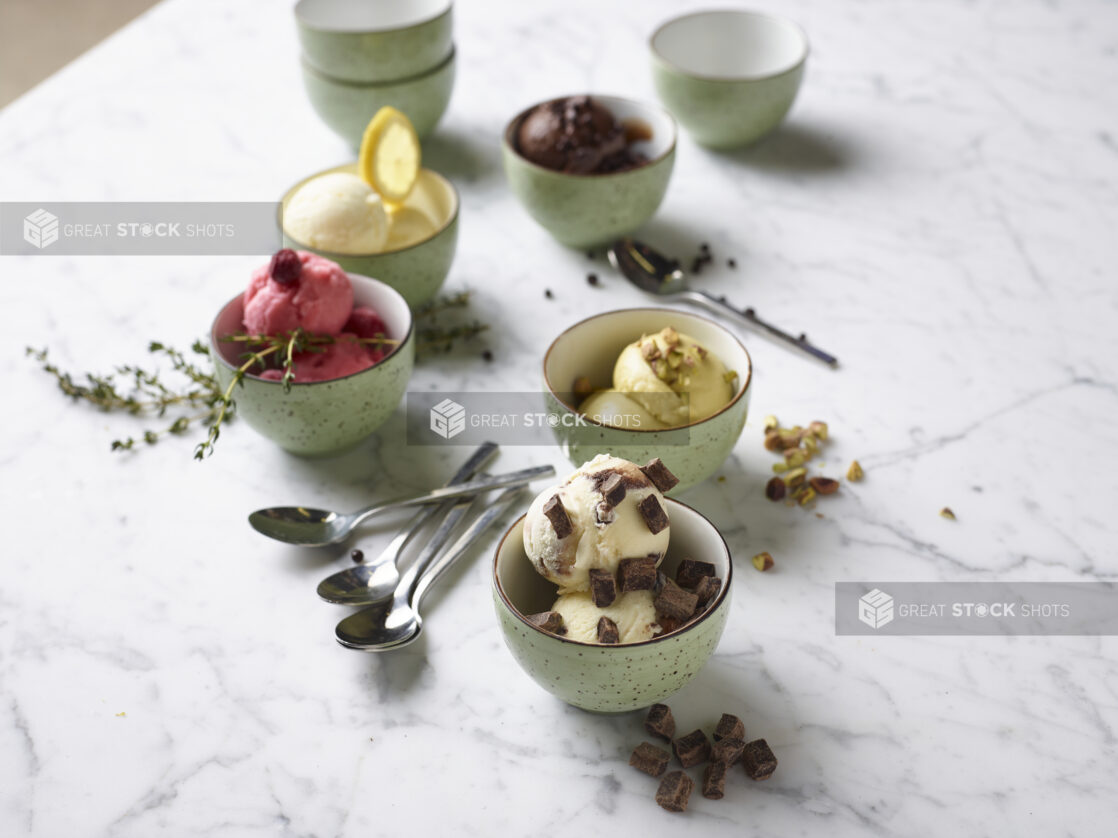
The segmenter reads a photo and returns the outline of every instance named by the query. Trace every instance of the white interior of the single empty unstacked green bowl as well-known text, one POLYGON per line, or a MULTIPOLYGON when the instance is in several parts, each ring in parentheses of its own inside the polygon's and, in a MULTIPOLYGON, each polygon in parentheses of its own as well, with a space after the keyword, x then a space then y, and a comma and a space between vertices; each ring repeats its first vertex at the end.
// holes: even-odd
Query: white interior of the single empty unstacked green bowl
POLYGON ((705 11, 669 21, 652 48, 686 74, 764 78, 792 69, 807 55, 807 38, 790 20, 748 11, 705 11))

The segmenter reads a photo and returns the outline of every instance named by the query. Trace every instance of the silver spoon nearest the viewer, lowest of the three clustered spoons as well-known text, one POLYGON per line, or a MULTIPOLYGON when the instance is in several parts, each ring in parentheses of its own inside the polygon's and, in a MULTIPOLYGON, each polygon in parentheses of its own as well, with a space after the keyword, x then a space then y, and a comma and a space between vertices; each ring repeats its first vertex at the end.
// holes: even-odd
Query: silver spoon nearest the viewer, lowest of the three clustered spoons
POLYGON ((515 501, 523 486, 505 489, 496 501, 479 498, 473 506, 484 508, 454 545, 425 570, 416 562, 400 579, 391 602, 363 608, 338 623, 334 636, 342 646, 360 651, 387 651, 415 642, 423 631, 419 606, 432 585, 447 569, 470 552, 474 542, 515 501), (421 575, 420 575, 421 574, 421 575))

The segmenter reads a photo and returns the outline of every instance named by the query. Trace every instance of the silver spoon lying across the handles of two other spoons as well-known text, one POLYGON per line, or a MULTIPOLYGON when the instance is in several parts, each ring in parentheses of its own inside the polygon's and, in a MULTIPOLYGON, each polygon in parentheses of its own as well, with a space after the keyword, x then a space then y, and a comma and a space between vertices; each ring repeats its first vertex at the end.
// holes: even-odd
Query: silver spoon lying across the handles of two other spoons
POLYGON ((463 495, 476 495, 489 489, 514 486, 518 483, 538 480, 541 477, 552 477, 555 473, 553 466, 536 466, 520 472, 496 475, 487 480, 470 480, 420 495, 392 498, 349 514, 311 510, 303 506, 274 506, 268 510, 257 510, 248 516, 248 523, 258 533, 286 544, 324 547, 345 541, 358 524, 372 515, 389 510, 449 501, 463 495))

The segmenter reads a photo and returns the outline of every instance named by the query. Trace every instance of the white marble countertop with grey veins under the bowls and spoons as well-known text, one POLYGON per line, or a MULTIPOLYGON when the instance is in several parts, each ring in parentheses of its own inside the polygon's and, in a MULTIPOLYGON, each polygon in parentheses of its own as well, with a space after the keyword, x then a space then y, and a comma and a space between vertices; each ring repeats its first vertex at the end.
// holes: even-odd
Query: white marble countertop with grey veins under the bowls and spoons
MULTIPOLYGON (((0 200, 273 200, 344 161, 302 93, 290 6, 168 0, 0 111, 0 200)), ((587 286, 586 256, 506 190, 498 136, 552 95, 653 99, 645 39, 680 6, 458 3, 457 88, 426 160, 462 191, 448 288, 474 292, 495 360, 425 363, 414 388, 534 388, 560 328, 645 302, 600 263, 587 286)), ((424 642, 335 645, 342 609, 314 585, 342 551, 274 545, 245 515, 446 474, 447 451, 392 444, 398 423, 337 459, 243 425, 203 464, 184 440, 111 454, 140 426, 67 403, 23 358, 106 370, 150 339, 188 345, 258 258, 4 257, 0 834, 1112 834, 1114 638, 836 637, 833 591, 1116 578, 1118 7, 755 6, 811 37, 800 98, 750 151, 684 137, 646 234, 682 256, 709 241, 705 287, 844 364, 750 339, 749 425, 724 479, 683 498, 739 575, 718 653, 670 703, 688 729, 741 715, 774 778, 661 811, 626 764, 639 714, 567 707, 512 660, 491 545, 430 600, 424 642), (865 482, 822 518, 769 504, 766 413, 827 420, 825 459, 859 458, 865 482)), ((539 460, 565 467, 502 455, 539 460)))

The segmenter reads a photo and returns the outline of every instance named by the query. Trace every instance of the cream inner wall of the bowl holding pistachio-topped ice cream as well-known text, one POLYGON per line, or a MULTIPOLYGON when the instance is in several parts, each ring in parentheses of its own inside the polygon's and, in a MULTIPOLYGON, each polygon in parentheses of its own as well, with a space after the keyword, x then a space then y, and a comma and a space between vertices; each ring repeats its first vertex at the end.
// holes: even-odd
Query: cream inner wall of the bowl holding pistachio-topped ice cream
POLYGON ((555 342, 543 359, 543 379, 569 407, 575 379, 585 375, 595 388, 613 385, 614 363, 628 344, 642 335, 672 326, 694 337, 714 353, 727 369, 738 373, 737 397, 747 385, 751 365, 749 353, 729 331, 712 320, 672 308, 623 308, 576 323, 555 342))

